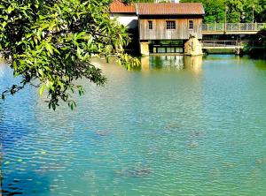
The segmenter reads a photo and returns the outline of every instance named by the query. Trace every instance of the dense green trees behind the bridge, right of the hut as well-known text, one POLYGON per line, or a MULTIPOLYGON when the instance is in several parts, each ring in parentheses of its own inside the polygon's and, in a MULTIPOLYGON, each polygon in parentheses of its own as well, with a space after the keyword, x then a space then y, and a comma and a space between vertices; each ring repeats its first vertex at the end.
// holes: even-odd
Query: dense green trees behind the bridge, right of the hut
POLYGON ((266 0, 181 0, 180 2, 201 2, 206 15, 205 23, 265 22, 266 0))

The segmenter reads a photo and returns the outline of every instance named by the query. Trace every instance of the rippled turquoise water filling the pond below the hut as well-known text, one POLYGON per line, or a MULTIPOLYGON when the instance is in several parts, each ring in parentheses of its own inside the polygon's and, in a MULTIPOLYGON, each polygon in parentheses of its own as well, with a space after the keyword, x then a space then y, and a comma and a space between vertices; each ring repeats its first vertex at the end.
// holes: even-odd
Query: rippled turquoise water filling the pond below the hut
POLYGON ((266 195, 265 61, 95 64, 108 83, 80 81, 74 111, 32 87, 0 101, 4 195, 266 195))

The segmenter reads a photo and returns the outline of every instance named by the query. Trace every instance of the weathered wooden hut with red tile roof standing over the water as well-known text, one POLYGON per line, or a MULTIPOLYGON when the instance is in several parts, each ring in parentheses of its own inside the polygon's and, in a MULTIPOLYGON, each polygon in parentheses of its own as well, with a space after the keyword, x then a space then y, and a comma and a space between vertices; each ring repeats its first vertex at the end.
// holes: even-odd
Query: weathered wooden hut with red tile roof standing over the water
POLYGON ((184 42, 193 37, 202 39, 201 3, 136 4, 140 52, 184 53, 184 42))

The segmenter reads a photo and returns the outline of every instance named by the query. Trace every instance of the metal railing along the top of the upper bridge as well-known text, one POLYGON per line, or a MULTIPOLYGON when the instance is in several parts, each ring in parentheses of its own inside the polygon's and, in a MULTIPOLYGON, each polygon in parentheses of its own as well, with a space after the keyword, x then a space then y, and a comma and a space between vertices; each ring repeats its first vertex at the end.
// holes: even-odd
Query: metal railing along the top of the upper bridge
POLYGON ((203 32, 257 32, 266 27, 266 23, 213 23, 202 24, 203 32))

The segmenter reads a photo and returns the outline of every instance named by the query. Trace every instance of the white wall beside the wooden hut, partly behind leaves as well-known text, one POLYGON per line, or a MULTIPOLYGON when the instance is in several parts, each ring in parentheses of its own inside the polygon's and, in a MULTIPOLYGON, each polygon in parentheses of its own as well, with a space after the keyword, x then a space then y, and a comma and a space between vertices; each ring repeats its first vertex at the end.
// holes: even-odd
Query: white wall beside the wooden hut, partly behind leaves
POLYGON ((121 25, 129 26, 129 28, 137 28, 137 16, 135 15, 112 13, 110 18, 116 18, 117 21, 121 23, 121 25))

